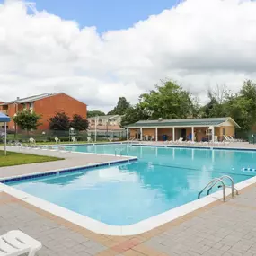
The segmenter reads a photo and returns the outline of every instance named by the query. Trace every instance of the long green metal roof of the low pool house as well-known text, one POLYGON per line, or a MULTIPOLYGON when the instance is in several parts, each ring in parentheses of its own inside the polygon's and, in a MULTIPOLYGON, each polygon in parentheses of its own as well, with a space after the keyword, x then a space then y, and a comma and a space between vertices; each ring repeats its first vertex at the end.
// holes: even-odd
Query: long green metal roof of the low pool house
POLYGON ((187 126, 218 126, 225 121, 231 121, 235 127, 239 125, 232 118, 212 118, 212 119, 158 119, 158 120, 142 120, 137 123, 130 124, 128 128, 140 127, 187 127, 187 126))

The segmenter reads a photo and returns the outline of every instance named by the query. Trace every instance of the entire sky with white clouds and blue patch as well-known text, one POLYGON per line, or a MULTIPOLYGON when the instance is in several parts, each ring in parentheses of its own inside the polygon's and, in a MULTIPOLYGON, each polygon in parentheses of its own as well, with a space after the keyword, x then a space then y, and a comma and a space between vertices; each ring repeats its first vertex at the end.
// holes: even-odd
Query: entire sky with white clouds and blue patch
POLYGON ((166 77, 202 101, 210 86, 256 80, 256 2, 57 2, 0 4, 0 100, 64 92, 110 110, 166 77))

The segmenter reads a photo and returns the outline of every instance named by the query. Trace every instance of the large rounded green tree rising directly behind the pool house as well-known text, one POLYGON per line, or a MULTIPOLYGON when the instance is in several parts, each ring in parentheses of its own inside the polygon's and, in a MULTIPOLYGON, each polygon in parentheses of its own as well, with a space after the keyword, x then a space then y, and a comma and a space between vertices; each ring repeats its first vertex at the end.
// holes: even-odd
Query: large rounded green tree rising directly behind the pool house
POLYGON ((150 119, 186 119, 198 114, 198 102, 189 92, 173 81, 162 83, 140 96, 139 104, 150 119))

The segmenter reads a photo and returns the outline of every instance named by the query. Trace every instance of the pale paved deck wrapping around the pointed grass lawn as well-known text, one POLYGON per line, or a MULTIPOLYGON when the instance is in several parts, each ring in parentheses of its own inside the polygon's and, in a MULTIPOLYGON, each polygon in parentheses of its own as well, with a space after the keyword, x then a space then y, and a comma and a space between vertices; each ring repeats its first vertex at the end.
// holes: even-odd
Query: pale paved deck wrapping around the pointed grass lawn
MULTIPOLYGON (((3 150, 3 147, 0 147, 3 150)), ((47 156, 56 156, 59 158, 65 158, 64 160, 46 162, 46 163, 30 163, 22 164, 9 167, 0 168, 0 179, 31 174, 31 173, 40 173, 40 172, 49 172, 54 170, 61 170, 66 168, 75 168, 86 166, 93 163, 107 163, 119 160, 127 160, 130 157, 126 156, 115 156, 107 154, 81 154, 81 153, 72 153, 64 152, 58 150, 42 150, 42 149, 33 149, 33 148, 19 148, 16 146, 8 146, 8 151, 23 153, 23 154, 39 154, 47 156)))

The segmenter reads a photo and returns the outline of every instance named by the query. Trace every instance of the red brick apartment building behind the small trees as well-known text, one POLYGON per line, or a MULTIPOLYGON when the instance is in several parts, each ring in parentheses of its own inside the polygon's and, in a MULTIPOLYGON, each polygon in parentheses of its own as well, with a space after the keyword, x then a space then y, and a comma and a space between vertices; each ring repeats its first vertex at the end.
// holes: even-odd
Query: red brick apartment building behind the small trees
MULTIPOLYGON (((15 113, 22 110, 31 110, 41 115, 40 127, 45 130, 49 128, 49 119, 57 112, 64 111, 67 116, 72 118, 74 114, 87 117, 87 105, 79 102, 65 93, 44 93, 27 98, 17 98, 12 102, 0 103, 0 111, 13 118, 15 113)), ((13 120, 8 123, 8 128, 14 130, 13 120)))

